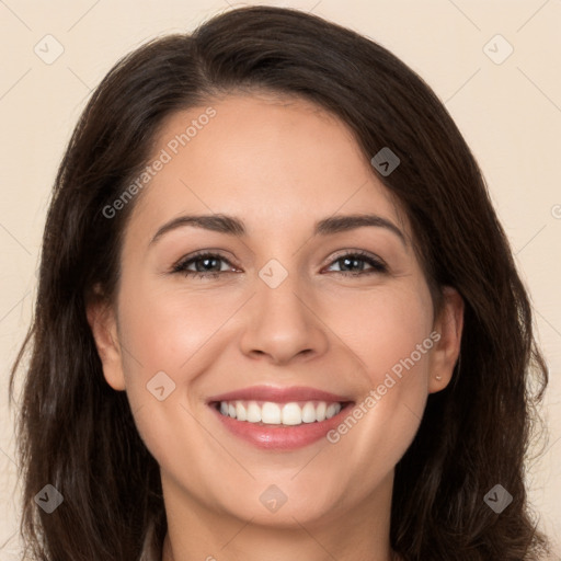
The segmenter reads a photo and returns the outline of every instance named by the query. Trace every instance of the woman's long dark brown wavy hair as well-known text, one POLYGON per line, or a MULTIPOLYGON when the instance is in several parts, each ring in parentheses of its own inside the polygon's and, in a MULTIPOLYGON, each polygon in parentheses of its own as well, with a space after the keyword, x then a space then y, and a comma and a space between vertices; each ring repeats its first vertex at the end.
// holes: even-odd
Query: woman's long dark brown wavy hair
POLYGON ((460 364, 448 387, 430 394, 396 468, 392 548, 411 561, 542 559, 548 542, 524 470, 548 374, 476 159, 430 87, 387 49, 270 7, 226 12, 124 57, 73 131, 48 209, 33 324, 10 379, 13 399, 28 347, 18 419, 27 554, 131 561, 161 551, 159 467, 125 392, 104 380, 85 306, 98 284, 115 297, 135 201, 112 219, 103 209, 146 167, 164 118, 239 90, 314 102, 351 128, 368 160, 390 147, 400 165, 379 180, 407 211, 435 298, 448 285, 465 300, 460 364), (34 501, 47 483, 64 496, 51 514, 34 501), (501 514, 483 500, 496 484, 513 496, 501 514))

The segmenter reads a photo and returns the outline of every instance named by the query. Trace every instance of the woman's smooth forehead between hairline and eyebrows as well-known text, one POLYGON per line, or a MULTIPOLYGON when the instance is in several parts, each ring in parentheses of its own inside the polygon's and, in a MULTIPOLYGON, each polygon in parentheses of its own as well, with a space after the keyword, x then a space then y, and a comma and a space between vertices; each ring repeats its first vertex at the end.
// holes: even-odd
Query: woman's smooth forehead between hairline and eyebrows
MULTIPOLYGON (((243 217, 250 236, 301 230, 335 214, 407 219, 350 128, 306 100, 230 95, 171 115, 154 139, 153 171, 130 228, 193 213, 243 217)), ((153 165, 152 165, 153 168, 153 165)))

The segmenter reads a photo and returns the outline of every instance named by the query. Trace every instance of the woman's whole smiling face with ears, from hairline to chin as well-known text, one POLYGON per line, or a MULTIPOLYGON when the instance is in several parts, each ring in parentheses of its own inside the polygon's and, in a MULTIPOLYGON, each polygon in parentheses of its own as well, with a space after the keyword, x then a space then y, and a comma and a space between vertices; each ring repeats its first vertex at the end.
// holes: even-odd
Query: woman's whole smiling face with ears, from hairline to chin
POLYGON ((298 100, 211 107, 164 124, 123 203, 105 378, 168 503, 265 525, 387 516, 460 304, 434 317, 410 225, 341 122, 298 100))

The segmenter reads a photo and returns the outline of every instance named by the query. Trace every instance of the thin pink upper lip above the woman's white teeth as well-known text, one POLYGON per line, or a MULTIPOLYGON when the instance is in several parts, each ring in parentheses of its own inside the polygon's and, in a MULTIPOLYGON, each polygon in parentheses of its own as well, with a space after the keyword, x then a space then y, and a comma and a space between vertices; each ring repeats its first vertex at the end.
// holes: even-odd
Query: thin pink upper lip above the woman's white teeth
POLYGON ((291 386, 278 388, 273 386, 251 386, 239 390, 220 393, 208 399, 208 403, 218 401, 272 401, 275 403, 289 403, 291 401, 328 401, 348 402, 351 399, 345 396, 336 396, 329 391, 318 390, 306 386, 291 386))

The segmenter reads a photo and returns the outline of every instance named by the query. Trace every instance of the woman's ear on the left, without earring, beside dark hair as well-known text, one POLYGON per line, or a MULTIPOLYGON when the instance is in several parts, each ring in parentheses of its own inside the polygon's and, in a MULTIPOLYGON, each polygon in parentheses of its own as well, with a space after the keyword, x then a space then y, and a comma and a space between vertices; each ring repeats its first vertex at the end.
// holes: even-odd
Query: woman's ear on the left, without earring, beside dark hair
POLYGON ((124 390, 125 376, 115 311, 111 305, 98 299, 87 306, 87 316, 103 366, 103 376, 114 390, 124 390))

